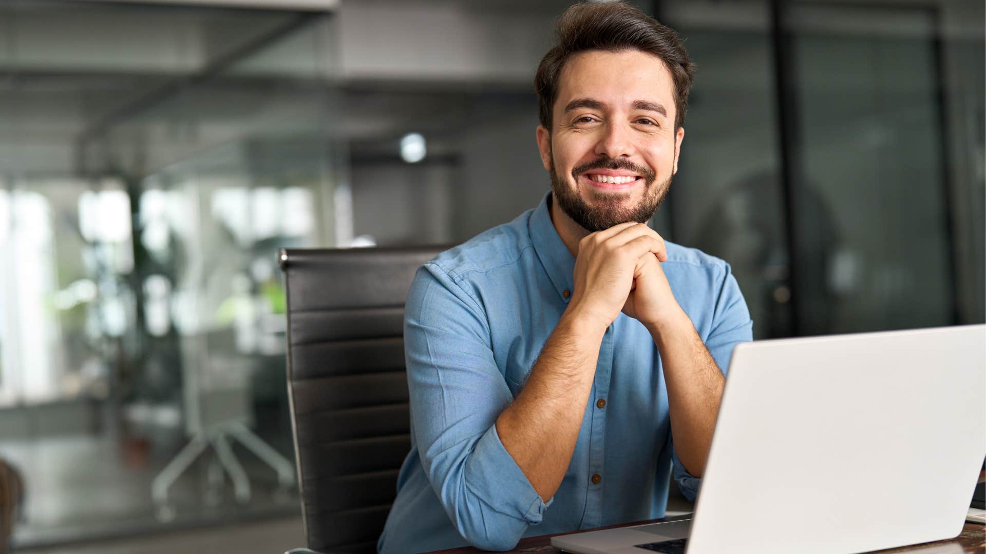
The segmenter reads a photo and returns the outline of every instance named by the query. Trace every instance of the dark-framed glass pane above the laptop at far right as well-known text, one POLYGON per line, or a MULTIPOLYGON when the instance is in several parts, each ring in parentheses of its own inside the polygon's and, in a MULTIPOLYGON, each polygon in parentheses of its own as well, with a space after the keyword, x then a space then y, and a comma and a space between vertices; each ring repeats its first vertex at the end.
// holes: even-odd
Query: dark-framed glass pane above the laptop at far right
POLYGON ((804 166, 794 189, 801 327, 954 322, 932 10, 796 6, 788 25, 804 166))

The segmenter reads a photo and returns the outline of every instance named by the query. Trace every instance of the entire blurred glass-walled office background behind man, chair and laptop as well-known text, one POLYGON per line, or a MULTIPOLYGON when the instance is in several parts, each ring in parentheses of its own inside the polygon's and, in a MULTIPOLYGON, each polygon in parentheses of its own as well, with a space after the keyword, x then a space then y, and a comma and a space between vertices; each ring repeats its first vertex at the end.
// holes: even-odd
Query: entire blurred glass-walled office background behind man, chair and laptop
MULTIPOLYGON (((276 249, 535 206, 569 3, 0 1, 15 545, 266 519, 295 534, 256 551, 302 546, 276 249)), ((981 0, 633 3, 697 64, 653 225, 733 265, 757 338, 984 320, 981 0)))

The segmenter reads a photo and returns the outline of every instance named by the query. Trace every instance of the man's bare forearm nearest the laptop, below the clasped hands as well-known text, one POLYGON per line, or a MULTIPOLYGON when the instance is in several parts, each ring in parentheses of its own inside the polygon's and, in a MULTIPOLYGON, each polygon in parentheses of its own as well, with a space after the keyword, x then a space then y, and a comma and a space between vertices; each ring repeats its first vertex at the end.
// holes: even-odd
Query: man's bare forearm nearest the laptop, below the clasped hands
POLYGON ((668 383, 674 450, 685 469, 701 477, 726 378, 684 312, 674 322, 650 331, 668 383))

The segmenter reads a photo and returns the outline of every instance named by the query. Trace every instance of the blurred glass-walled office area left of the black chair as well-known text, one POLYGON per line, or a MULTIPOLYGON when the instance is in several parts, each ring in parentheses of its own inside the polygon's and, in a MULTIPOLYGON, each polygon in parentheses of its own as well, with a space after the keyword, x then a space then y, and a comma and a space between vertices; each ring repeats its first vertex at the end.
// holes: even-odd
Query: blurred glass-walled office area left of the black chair
POLYGON ((281 246, 334 243, 330 14, 0 4, 15 544, 296 513, 281 246))

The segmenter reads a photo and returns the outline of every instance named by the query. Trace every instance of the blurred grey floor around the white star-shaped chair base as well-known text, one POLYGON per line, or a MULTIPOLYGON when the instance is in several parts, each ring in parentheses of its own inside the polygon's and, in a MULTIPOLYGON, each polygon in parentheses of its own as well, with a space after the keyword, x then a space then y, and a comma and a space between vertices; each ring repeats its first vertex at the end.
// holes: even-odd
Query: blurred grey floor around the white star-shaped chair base
MULTIPOLYGON (((15 547, 168 532, 212 540, 207 538, 208 525, 250 527, 270 519, 287 519, 301 528, 296 490, 278 487, 276 473, 237 446, 233 451, 250 482, 247 501, 235 498, 229 478, 216 470, 215 454, 207 451, 169 489, 167 505, 156 505, 151 483, 181 446, 179 441, 171 449, 153 452, 92 436, 2 442, 0 455, 20 470, 25 483, 15 547)), ((295 534, 296 540, 281 540, 279 547, 302 545, 301 532, 295 534)))

